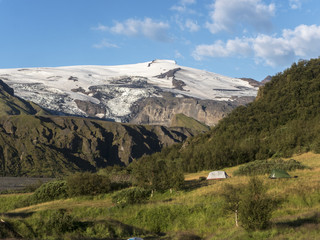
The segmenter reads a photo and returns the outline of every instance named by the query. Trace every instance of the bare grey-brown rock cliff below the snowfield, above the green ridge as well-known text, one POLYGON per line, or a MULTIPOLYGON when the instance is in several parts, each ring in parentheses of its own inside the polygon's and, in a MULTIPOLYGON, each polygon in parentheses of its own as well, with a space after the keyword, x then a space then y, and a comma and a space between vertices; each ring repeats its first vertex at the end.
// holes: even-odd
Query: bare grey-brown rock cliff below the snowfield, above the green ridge
POLYGON ((182 113, 208 126, 213 126, 220 119, 239 105, 253 101, 253 97, 243 97, 234 101, 198 100, 177 98, 166 94, 162 98, 147 98, 135 104, 131 110, 131 123, 171 125, 174 115, 182 113))

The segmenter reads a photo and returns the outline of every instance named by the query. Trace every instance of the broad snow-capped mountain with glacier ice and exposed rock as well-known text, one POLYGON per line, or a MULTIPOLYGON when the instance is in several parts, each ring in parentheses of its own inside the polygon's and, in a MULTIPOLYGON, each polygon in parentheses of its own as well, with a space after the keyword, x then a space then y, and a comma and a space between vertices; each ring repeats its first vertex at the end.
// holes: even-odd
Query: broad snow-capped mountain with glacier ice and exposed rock
POLYGON ((251 101, 258 90, 246 80, 179 66, 171 60, 0 69, 0 79, 14 89, 15 95, 56 114, 166 125, 177 113, 213 125, 216 120, 210 120, 214 115, 210 104, 233 108, 251 101))

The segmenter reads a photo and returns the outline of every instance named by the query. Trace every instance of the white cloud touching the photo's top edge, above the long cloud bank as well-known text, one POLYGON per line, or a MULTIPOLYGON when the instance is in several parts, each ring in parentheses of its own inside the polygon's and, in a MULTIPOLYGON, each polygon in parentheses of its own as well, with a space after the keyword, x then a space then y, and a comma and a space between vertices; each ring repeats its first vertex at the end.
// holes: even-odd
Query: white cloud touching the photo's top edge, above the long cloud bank
POLYGON ((211 22, 206 24, 211 33, 232 31, 243 24, 268 30, 275 13, 274 4, 266 5, 261 0, 216 0, 212 6, 211 22))

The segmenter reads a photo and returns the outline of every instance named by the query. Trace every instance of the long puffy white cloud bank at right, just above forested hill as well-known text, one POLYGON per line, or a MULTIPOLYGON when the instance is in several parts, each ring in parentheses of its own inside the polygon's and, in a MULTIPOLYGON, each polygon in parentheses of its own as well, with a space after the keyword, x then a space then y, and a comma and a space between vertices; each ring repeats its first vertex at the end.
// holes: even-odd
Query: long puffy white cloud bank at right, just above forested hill
POLYGON ((319 53, 320 26, 299 25, 293 30, 283 30, 281 37, 260 34, 256 38, 199 45, 192 55, 196 60, 205 57, 254 57, 270 66, 285 66, 296 58, 318 57, 319 53))

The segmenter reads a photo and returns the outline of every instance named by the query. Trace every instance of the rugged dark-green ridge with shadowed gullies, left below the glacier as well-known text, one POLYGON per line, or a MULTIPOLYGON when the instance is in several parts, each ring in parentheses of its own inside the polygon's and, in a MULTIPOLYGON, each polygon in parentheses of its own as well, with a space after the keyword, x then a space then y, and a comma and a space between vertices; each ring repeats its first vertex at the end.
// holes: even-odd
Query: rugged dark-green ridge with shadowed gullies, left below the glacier
POLYGON ((127 165, 182 142, 192 130, 42 115, 0 82, 0 176, 60 176, 127 165))

